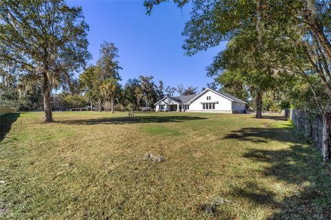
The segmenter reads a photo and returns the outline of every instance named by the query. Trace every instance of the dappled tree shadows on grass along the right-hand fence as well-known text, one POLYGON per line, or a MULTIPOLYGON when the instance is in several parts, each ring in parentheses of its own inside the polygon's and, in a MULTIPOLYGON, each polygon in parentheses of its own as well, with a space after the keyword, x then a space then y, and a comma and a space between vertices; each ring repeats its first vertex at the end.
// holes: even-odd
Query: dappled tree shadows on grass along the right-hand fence
POLYGON ((252 170, 252 173, 259 172, 259 178, 272 177, 277 181, 266 181, 268 185, 265 181, 246 181, 243 186, 232 188, 232 196, 277 209, 269 219, 331 219, 330 166, 322 163, 321 153, 314 146, 298 140, 292 128, 244 128, 225 138, 291 143, 290 147, 280 150, 259 148, 244 153, 243 157, 254 163, 262 163, 263 170, 252 170), (284 189, 285 186, 280 188, 281 194, 285 195, 281 200, 277 199, 275 193, 278 190, 277 182, 288 184, 287 189, 284 189), (286 196, 286 190, 290 190, 290 196, 286 196))

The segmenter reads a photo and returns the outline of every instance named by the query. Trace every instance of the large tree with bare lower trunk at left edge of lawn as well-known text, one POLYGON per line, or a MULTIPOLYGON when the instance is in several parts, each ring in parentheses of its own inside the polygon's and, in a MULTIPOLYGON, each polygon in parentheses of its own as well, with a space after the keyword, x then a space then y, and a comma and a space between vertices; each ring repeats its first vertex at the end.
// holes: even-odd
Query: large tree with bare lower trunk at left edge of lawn
POLYGON ((28 80, 43 79, 45 122, 52 89, 67 84, 90 58, 81 7, 63 0, 0 2, 0 63, 28 80))

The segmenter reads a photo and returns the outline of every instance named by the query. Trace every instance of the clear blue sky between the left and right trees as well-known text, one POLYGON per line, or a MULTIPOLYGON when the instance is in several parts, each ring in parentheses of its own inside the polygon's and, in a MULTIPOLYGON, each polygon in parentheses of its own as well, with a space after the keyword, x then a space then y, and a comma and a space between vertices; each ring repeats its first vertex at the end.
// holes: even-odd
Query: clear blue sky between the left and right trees
POLYGON ((69 0, 68 4, 81 5, 90 25, 91 64, 99 58, 103 41, 119 48, 122 84, 139 75, 152 75, 156 83, 163 80, 165 87, 182 83, 200 90, 212 82, 205 76, 205 67, 225 44, 194 56, 185 55, 181 32, 190 19, 190 5, 181 10, 174 3, 163 3, 148 16, 143 1, 69 0))

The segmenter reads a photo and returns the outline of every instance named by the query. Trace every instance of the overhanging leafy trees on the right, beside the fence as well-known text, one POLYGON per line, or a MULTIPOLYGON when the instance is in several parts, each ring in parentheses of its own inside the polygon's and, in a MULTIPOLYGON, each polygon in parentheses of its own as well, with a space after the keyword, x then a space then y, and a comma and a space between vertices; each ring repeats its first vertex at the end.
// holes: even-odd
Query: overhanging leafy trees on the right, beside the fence
MULTIPOLYGON (((154 5, 164 1, 146 0, 147 14, 154 5)), ((174 3, 183 7, 188 1, 174 0, 174 3)), ((208 72, 211 76, 219 75, 220 83, 233 85, 239 92, 241 87, 248 86, 256 93, 257 111, 261 111, 263 93, 270 89, 284 89, 283 85, 292 80, 294 85, 308 85, 317 106, 312 109, 319 109, 323 115, 323 156, 328 161, 331 145, 330 2, 195 0, 192 5, 190 20, 183 30, 186 54, 192 56, 228 41, 226 50, 214 58, 208 72), (238 80, 234 82, 221 74, 238 80), (325 94, 319 92, 317 79, 328 102, 323 102, 325 94)), ((257 118, 260 116, 257 113, 257 118)))

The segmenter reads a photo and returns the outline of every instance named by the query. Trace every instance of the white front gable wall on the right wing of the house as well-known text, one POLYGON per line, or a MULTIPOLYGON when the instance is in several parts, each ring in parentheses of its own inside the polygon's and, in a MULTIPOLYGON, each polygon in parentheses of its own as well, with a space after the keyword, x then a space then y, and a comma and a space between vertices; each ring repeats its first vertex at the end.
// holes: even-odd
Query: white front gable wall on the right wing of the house
POLYGON ((190 104, 190 110, 188 111, 231 111, 232 101, 215 94, 213 91, 207 91, 205 94, 194 100, 190 104), (210 96, 210 100, 207 100, 207 96, 210 96), (201 103, 218 102, 215 103, 215 109, 202 109, 201 103))

